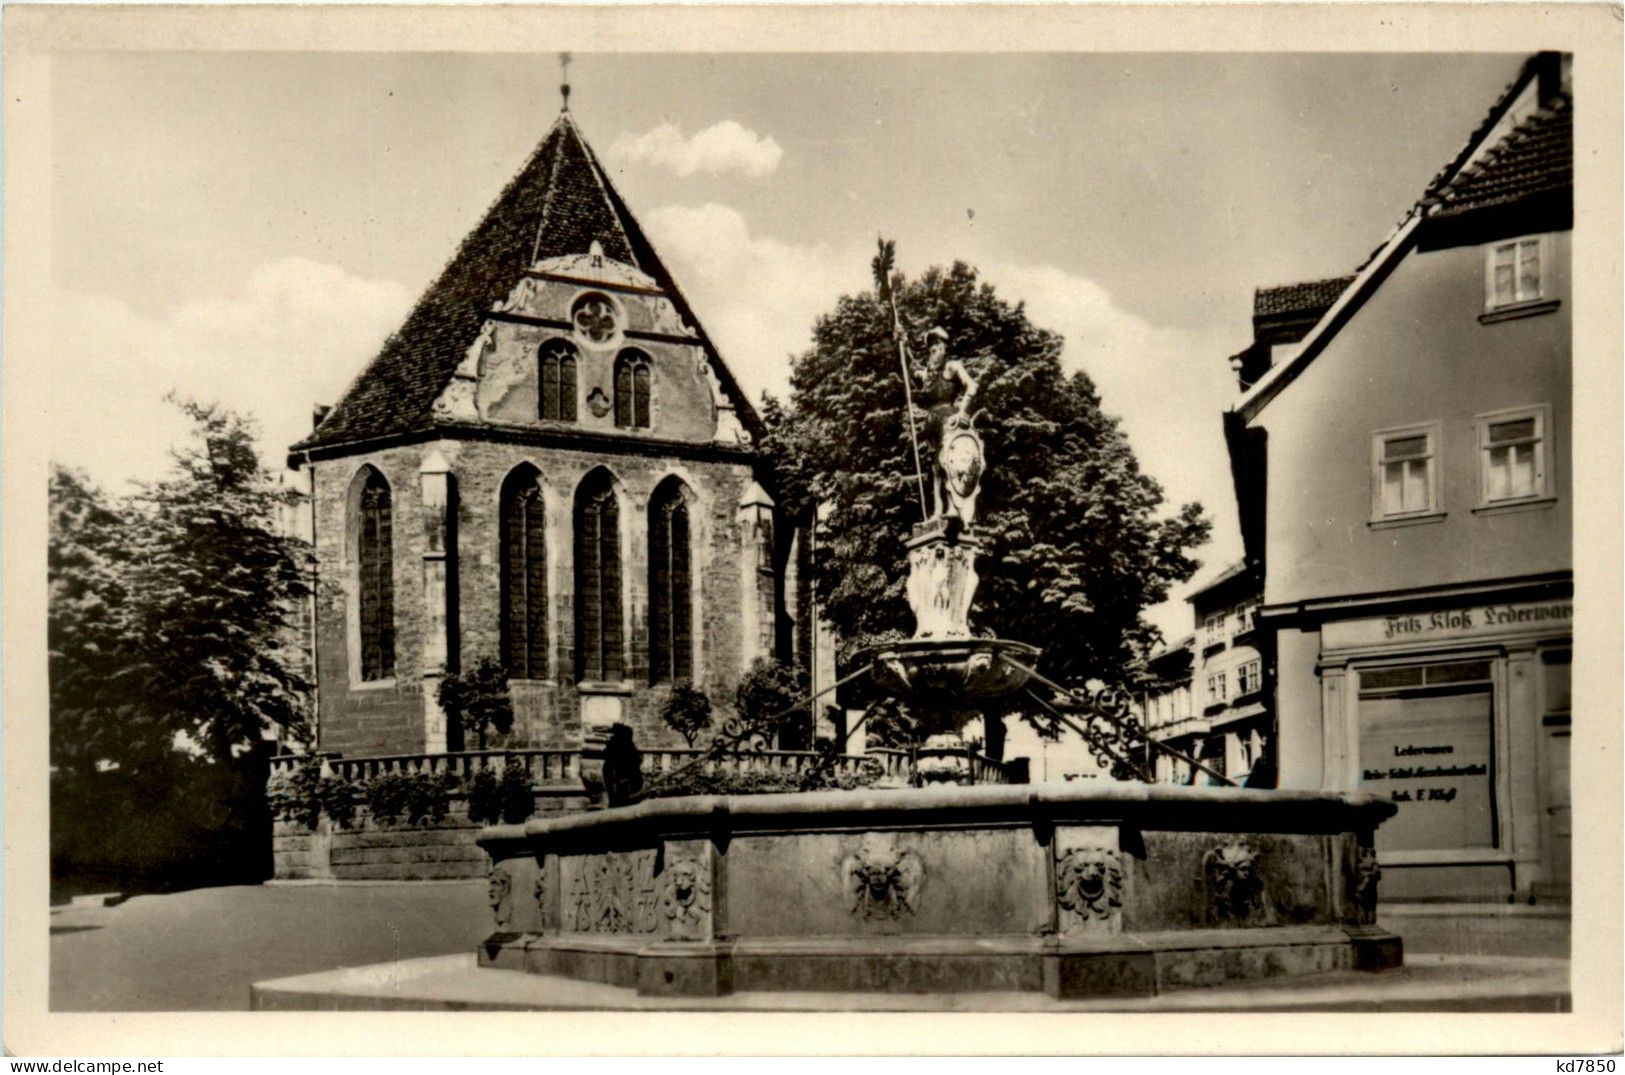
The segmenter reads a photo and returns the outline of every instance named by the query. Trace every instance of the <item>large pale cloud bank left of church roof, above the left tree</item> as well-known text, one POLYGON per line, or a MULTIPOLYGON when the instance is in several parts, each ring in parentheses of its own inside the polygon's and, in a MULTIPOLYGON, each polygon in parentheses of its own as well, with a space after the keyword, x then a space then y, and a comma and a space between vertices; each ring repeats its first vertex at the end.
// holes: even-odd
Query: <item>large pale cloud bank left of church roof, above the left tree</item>
POLYGON ((109 489, 153 479, 188 422, 177 391, 252 414, 262 458, 280 468, 310 430, 310 408, 336 403, 405 318, 411 294, 306 258, 254 270, 229 294, 150 317, 117 299, 57 292, 41 359, 52 461, 109 489))

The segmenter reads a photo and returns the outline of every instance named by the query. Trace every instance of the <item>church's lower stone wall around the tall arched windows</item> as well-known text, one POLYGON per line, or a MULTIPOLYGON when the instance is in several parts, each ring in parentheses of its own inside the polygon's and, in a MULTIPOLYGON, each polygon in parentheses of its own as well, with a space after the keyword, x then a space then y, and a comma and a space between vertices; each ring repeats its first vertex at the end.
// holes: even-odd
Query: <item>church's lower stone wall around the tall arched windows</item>
MULTIPOLYGON (((455 554, 448 570, 455 589, 447 607, 455 614, 447 637, 455 641, 463 667, 499 653, 499 490, 502 479, 525 463, 541 473, 546 503, 549 667, 548 679, 512 680, 515 727, 505 745, 580 745, 582 693, 574 682, 575 594, 572 550, 572 499, 580 481, 603 466, 616 479, 621 505, 624 576, 624 638, 627 677, 606 697, 624 698, 627 719, 640 744, 681 745, 660 723, 658 710, 670 684, 650 685, 648 674, 648 562, 647 520, 655 486, 676 476, 694 494, 694 664, 696 685, 718 703, 731 698, 739 674, 764 656, 759 635, 744 630, 762 615, 754 604, 756 526, 769 510, 746 505, 754 486, 748 461, 679 461, 670 456, 626 455, 566 448, 481 442, 431 442, 387 448, 314 464, 315 533, 318 563, 317 653, 322 684, 320 747, 344 755, 416 753, 447 749, 434 692, 440 667, 426 659, 432 640, 424 620, 427 588, 426 533, 419 469, 439 455, 450 464, 455 505, 455 554), (354 572, 351 492, 364 466, 377 468, 390 482, 395 508, 395 676, 361 682, 353 658, 354 572), (751 586, 746 583, 749 570, 751 586), (751 602, 749 611, 744 604, 751 602)), ((767 609, 767 615, 774 611, 767 609)), ((431 654, 432 656, 432 654, 431 654)), ((455 739, 455 737, 453 737, 455 739)))

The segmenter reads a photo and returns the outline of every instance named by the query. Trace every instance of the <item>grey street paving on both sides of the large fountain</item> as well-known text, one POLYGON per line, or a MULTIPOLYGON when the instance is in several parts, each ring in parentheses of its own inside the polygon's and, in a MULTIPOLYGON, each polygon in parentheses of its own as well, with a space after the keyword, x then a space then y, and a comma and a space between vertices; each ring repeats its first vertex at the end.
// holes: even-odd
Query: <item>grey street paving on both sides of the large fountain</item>
MULTIPOLYGON (((57 1012, 245 1010, 249 986, 341 966, 468 952, 486 883, 198 888, 110 908, 52 908, 57 1012)), ((1414 908, 1383 924, 1406 955, 1568 958, 1568 919, 1414 908)))

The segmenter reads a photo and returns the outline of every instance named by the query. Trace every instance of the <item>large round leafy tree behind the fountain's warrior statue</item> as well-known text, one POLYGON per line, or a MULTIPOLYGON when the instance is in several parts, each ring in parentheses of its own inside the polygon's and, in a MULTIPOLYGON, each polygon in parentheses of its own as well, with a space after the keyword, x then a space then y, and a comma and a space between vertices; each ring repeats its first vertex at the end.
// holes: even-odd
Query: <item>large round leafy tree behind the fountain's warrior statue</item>
MULTIPOLYGON (((1198 567, 1190 550, 1209 531, 1201 507, 1162 512, 1162 489, 1094 382, 1063 372, 1061 338, 975 270, 897 276, 894 291, 913 354, 939 325, 949 357, 980 382, 988 469, 973 627, 1040 646, 1040 669, 1063 682, 1123 682, 1155 641, 1141 611, 1198 567)), ((869 294, 842 297, 814 325, 790 385, 788 408, 764 408, 775 492, 803 518, 822 505, 812 576, 845 658, 913 628, 905 541, 921 508, 889 310, 869 294)))

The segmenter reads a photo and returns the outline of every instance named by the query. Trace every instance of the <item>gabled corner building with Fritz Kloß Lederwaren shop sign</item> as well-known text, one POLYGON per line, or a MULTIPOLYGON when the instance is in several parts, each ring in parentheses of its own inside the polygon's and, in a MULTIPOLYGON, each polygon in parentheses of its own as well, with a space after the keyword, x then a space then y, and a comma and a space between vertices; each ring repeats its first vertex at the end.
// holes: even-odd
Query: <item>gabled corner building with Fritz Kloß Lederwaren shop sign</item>
POLYGON ((1280 786, 1399 805, 1384 895, 1568 890, 1571 114, 1532 57, 1302 344, 1232 360, 1280 786))

